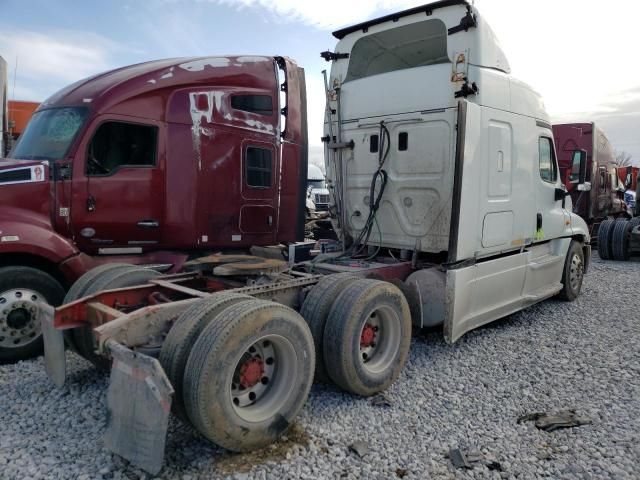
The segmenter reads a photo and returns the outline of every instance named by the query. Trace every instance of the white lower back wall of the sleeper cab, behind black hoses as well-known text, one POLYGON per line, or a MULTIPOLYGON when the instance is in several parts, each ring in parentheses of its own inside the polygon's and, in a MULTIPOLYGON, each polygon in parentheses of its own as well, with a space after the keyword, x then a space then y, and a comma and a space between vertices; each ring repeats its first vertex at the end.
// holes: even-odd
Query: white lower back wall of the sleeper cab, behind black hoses
MULTIPOLYGON (((388 181, 370 236, 372 245, 446 251, 451 226, 455 110, 393 115, 385 118, 390 149, 384 162, 388 181), (399 149, 399 135, 406 133, 408 148, 399 149)), ((379 154, 371 152, 377 122, 362 120, 344 125, 343 139, 354 141, 344 152, 347 163, 347 219, 356 237, 369 214, 371 179, 379 154)), ((381 145, 381 143, 380 143, 381 145)), ((386 147, 385 147, 386 150, 386 147)))

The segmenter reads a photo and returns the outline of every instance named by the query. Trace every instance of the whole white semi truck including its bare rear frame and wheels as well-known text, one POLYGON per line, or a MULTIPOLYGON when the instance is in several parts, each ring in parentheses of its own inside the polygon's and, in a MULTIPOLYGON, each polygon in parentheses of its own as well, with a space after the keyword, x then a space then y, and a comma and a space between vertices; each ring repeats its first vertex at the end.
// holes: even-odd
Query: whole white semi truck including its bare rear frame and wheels
MULTIPOLYGON (((170 412, 229 450, 260 448, 291 425, 314 378, 362 396, 391 385, 412 326, 439 326, 453 343, 580 293, 589 229, 562 185, 548 115, 477 9, 440 1, 334 36, 322 53, 324 143, 342 248, 293 265, 211 255, 171 274, 103 266, 65 305, 37 304, 49 376, 65 381, 65 337, 111 364, 105 446, 151 473, 170 412)), ((224 116, 224 102, 206 105, 224 116)), ((289 111, 287 128, 304 120, 289 111)), ((579 170, 586 190, 586 158, 579 170)))

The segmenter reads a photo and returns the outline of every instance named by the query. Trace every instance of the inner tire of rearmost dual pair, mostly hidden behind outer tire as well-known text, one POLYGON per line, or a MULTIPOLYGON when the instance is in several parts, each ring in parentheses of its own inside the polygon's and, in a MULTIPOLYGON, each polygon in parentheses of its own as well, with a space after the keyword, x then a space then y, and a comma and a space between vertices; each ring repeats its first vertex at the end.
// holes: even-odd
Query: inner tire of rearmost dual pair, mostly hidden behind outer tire
POLYGON ((183 420, 187 420, 182 395, 184 370, 189 354, 202 330, 224 309, 240 302, 253 300, 249 295, 233 292, 220 292, 210 298, 204 298, 187 308, 177 318, 167 338, 160 348, 160 365, 164 369, 173 389, 174 412, 183 420))

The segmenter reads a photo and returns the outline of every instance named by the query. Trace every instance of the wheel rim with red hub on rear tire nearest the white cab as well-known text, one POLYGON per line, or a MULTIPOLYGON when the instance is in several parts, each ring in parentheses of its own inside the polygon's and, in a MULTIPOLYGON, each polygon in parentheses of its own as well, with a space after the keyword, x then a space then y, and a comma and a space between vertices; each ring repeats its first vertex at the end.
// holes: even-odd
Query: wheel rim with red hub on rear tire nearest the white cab
POLYGON ((400 317, 390 307, 373 309, 360 329, 360 364, 370 373, 385 372, 400 350, 402 326, 400 317), (373 335, 373 338, 372 338, 373 335))

